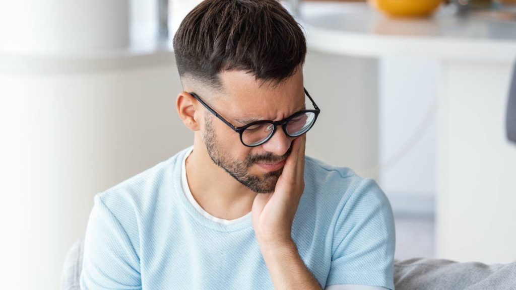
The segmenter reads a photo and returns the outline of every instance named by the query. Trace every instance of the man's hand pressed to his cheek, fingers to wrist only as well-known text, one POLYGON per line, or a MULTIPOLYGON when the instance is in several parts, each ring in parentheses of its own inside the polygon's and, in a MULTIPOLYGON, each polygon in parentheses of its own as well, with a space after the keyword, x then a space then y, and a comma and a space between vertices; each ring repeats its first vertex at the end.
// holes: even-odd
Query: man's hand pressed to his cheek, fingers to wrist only
POLYGON ((254 234, 262 251, 290 247, 292 223, 304 190, 304 148, 307 135, 294 139, 292 153, 272 194, 258 194, 252 206, 254 234))

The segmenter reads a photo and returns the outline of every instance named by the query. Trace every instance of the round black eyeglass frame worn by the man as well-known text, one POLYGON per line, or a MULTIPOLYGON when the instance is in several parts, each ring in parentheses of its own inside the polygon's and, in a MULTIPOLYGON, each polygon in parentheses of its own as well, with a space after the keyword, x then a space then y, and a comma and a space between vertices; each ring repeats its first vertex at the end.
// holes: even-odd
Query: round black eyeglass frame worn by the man
POLYGON ((224 119, 222 116, 220 116, 214 109, 212 109, 210 106, 208 106, 208 104, 204 103, 203 100, 201 100, 201 98, 199 98, 199 96, 194 93, 194 92, 190 92, 191 95, 193 95, 194 98, 196 98, 206 109, 208 109, 208 111, 212 112, 213 115, 215 115, 215 117, 219 118, 222 122, 224 122, 226 125, 228 125, 230 128, 233 129, 233 131, 237 132, 239 135, 240 135, 240 142, 242 144, 244 144, 244 146, 246 147, 256 147, 256 146, 260 146, 261 144, 267 142, 270 138, 272 138, 272 136, 276 133, 276 127, 278 125, 282 125, 282 128, 283 128, 283 132, 285 133, 285 135, 287 135, 288 137, 299 137, 305 133, 307 133, 312 127, 313 125, 315 124, 315 121, 317 120, 317 116, 319 116, 319 113, 320 113, 320 109, 319 107, 317 107, 317 105, 315 104, 314 100, 312 99, 312 97, 310 96, 310 94, 308 93, 307 89, 305 89, 303 87, 303 90, 304 90, 304 93, 307 94, 308 98, 310 99, 310 101, 312 102, 312 105, 314 106, 315 109, 309 109, 309 110, 301 110, 301 111, 298 111, 298 112, 295 112, 294 114, 292 114, 291 116, 288 116, 286 117, 285 119, 283 120, 279 120, 279 121, 272 121, 272 120, 258 120, 258 121, 254 121, 254 122, 251 122, 249 124, 246 124, 244 126, 240 126, 240 127, 237 127, 233 124, 231 124, 228 120, 224 119), (304 131, 303 134, 299 134, 299 135, 290 135, 287 133, 287 130, 286 130, 286 126, 283 126, 284 124, 286 124, 288 121, 290 121, 291 119, 297 117, 298 115, 301 115, 301 114, 305 114, 307 112, 313 112, 315 114, 315 117, 314 117, 314 121, 312 122, 312 124, 310 125, 310 127, 304 131), (273 128, 272 128, 272 133, 267 137, 265 138, 264 140, 260 141, 259 143, 256 143, 256 144, 252 144, 252 145, 248 145, 246 143, 244 143, 244 140, 242 139, 242 135, 244 133, 244 130, 246 130, 248 127, 252 126, 252 125, 256 125, 256 124, 262 124, 262 123, 269 123, 269 124, 272 124, 273 125, 273 128))

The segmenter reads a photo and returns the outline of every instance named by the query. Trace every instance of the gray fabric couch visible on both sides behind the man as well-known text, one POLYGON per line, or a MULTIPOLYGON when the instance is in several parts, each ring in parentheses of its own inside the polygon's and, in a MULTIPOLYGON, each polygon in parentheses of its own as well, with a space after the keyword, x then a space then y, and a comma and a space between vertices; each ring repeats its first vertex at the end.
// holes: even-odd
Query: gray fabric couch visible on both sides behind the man
MULTIPOLYGON (((61 290, 80 290, 84 240, 68 252, 61 275, 61 290)), ((516 290, 516 261, 486 265, 449 260, 415 258, 396 260, 396 290, 516 290)))

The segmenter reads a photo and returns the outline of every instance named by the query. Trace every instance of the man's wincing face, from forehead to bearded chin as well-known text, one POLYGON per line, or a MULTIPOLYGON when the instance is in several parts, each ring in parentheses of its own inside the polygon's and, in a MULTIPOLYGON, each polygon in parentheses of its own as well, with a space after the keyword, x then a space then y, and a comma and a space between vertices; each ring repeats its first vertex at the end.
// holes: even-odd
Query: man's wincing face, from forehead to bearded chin
MULTIPOLYGON (((224 93, 212 98, 210 106, 237 127, 253 120, 282 120, 305 107, 301 69, 274 87, 260 86, 253 75, 243 71, 221 73, 221 79, 224 93)), ((205 110, 202 133, 215 164, 254 192, 274 191, 294 139, 281 127, 267 142, 246 147, 238 133, 205 110)))

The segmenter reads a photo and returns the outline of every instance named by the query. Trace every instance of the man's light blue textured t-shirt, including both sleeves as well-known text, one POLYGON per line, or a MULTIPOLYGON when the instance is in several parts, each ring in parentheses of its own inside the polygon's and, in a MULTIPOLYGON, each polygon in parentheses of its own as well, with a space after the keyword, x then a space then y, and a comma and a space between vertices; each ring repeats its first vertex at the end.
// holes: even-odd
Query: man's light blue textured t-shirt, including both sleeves
MULTIPOLYGON (((273 289, 251 215, 216 222, 185 195, 190 150, 95 195, 83 290, 273 289)), ((308 156, 304 182, 292 239, 319 284, 394 290, 394 219, 378 185, 308 156)))

